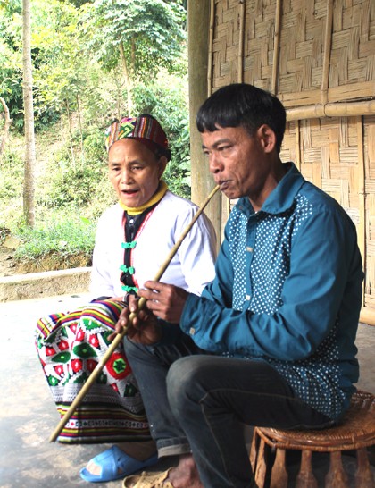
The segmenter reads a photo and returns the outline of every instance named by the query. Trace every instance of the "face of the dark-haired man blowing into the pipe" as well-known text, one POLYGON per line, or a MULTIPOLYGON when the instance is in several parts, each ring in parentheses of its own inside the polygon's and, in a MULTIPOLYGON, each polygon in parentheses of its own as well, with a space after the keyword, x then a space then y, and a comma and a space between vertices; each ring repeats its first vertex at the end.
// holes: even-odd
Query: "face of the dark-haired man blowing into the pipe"
POLYGON ((228 198, 249 197, 254 201, 268 189, 271 167, 262 134, 260 128, 250 136, 244 127, 202 133, 210 172, 228 198))

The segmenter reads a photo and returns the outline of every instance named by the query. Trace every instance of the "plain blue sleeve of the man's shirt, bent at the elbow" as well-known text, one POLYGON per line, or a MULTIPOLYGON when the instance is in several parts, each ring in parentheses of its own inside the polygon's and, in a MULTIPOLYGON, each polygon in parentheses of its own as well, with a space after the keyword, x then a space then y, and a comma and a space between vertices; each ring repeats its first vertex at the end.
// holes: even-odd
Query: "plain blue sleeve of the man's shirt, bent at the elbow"
MULTIPOLYGON (((282 304, 274 314, 233 310, 232 266, 224 241, 217 277, 201 299, 190 295, 180 326, 215 353, 298 360, 312 355, 345 311, 358 320, 362 262, 354 224, 337 211, 304 221, 293 239, 282 304), (359 301, 358 301, 359 300, 359 301)), ((347 318, 347 317, 346 317, 347 318)))

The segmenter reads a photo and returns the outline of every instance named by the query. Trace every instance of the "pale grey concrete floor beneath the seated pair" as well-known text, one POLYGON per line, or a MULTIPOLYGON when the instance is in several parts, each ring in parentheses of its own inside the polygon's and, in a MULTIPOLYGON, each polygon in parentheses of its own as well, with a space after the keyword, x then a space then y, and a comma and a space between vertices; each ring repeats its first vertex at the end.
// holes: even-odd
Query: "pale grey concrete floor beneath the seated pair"
MULTIPOLYGON (((39 316, 71 310, 86 301, 87 295, 80 294, 0 303, 4 328, 0 357, 0 488, 89 486, 80 478, 79 469, 108 447, 48 442, 59 416, 34 349, 35 323, 39 316)), ((360 324, 357 344, 362 368, 357 386, 375 394, 375 327, 360 324)), ((159 467, 164 468, 165 461, 159 467)), ((346 467, 354 471, 354 459, 348 457, 346 467)), ((121 480, 96 486, 120 488, 121 480)))

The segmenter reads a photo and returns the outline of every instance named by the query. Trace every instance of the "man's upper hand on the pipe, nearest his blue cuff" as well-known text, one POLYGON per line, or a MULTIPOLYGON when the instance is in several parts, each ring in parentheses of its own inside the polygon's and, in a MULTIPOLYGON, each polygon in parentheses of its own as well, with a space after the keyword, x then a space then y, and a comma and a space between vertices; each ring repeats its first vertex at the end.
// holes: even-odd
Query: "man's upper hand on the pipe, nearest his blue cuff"
POLYGON ((146 306, 155 316, 179 324, 182 310, 187 301, 188 293, 177 286, 161 283, 146 282, 145 289, 138 290, 139 297, 146 299, 146 306))

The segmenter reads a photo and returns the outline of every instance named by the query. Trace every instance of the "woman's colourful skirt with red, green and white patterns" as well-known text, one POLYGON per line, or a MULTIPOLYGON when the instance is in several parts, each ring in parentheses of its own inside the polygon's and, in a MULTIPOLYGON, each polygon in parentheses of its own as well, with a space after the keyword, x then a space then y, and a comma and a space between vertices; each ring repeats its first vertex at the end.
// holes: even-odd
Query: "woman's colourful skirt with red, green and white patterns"
MULTIPOLYGON (((110 344, 108 336, 122 307, 121 302, 106 299, 37 322, 37 354, 61 416, 103 358, 110 344)), ((149 439, 143 403, 121 344, 87 391, 58 441, 89 443, 149 439)))

